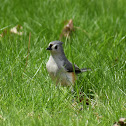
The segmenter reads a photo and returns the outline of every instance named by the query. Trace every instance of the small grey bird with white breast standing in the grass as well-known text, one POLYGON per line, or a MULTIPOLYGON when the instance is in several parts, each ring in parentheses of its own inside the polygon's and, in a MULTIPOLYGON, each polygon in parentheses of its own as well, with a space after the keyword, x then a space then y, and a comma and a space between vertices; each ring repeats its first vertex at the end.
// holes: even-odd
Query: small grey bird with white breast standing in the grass
POLYGON ((50 51, 49 60, 46 63, 46 69, 56 85, 73 86, 77 80, 77 74, 91 69, 80 69, 76 64, 72 64, 65 56, 61 41, 52 41, 46 50, 50 51))

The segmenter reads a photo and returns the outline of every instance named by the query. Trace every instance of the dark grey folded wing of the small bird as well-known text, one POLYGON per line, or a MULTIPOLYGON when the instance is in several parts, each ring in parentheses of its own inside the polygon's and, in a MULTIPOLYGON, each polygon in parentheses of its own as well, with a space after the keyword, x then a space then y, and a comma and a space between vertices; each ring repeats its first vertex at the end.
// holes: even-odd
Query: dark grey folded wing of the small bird
POLYGON ((79 67, 75 64, 72 64, 69 61, 64 62, 64 68, 66 69, 67 72, 75 72, 76 74, 81 73, 79 67))

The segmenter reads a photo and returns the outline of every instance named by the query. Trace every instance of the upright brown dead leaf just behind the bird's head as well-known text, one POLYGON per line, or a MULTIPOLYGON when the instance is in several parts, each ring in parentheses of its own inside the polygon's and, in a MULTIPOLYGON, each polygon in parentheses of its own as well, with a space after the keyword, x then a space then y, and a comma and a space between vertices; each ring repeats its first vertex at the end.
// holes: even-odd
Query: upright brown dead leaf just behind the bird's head
POLYGON ((62 33, 60 34, 60 39, 62 37, 70 38, 70 34, 74 31, 73 20, 70 19, 68 23, 64 26, 62 33))

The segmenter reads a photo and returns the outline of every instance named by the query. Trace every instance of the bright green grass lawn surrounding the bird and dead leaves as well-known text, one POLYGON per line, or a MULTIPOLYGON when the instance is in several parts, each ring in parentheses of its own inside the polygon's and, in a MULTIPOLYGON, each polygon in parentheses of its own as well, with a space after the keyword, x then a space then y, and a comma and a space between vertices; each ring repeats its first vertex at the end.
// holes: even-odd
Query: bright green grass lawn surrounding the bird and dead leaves
POLYGON ((126 117, 125 0, 5 0, 0 12, 0 34, 8 31, 0 37, 1 126, 112 126, 126 117), (79 29, 62 39, 63 46, 70 61, 92 69, 79 75, 74 86, 89 105, 56 87, 45 68, 45 49, 59 40, 69 19, 79 29), (16 25, 23 27, 22 36, 9 32, 16 25))

